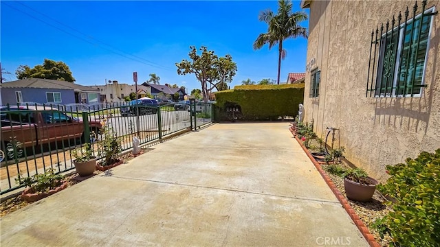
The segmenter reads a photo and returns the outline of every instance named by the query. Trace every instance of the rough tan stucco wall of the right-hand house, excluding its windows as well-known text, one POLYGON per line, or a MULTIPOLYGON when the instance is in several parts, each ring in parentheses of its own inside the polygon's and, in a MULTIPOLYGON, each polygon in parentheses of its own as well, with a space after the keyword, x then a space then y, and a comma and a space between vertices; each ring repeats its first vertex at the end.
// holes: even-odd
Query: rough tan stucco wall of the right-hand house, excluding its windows
MULTIPOLYGON (((440 14, 432 22, 428 59, 420 97, 366 97, 371 31, 412 10, 415 1, 307 1, 310 8, 307 63, 321 71, 319 97, 309 97, 305 78, 305 121, 318 136, 335 131, 348 161, 379 180, 385 166, 421 151, 440 148, 440 14)), ((421 1, 417 1, 421 6, 421 1)), ((440 1, 426 9, 439 10, 440 1)), ((418 11, 418 13, 420 10, 418 11)), ((410 15, 411 16, 411 15, 410 15)), ((331 144, 331 138, 328 143, 331 144)))

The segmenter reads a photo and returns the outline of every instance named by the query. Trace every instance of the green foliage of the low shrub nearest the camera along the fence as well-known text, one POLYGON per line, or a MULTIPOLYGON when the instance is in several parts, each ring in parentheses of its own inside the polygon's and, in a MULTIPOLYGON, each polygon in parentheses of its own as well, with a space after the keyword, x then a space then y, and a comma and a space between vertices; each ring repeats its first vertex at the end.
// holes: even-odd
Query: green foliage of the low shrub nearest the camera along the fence
POLYGON ((54 169, 49 168, 43 174, 35 174, 30 177, 23 177, 21 174, 15 178, 15 181, 20 185, 31 187, 35 193, 47 192, 50 189, 55 189, 63 185, 64 176, 55 174, 54 169))

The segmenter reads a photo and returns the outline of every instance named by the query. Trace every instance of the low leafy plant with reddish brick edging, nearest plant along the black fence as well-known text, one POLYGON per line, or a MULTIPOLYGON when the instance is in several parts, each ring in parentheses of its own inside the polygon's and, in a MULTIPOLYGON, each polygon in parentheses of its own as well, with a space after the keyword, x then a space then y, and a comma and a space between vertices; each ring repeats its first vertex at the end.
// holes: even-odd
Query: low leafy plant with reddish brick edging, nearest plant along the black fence
POLYGON ((21 174, 15 178, 20 185, 25 185, 21 197, 25 202, 36 202, 58 191, 67 188, 67 181, 61 174, 55 174, 54 169, 49 168, 44 174, 35 174, 23 177, 21 174))

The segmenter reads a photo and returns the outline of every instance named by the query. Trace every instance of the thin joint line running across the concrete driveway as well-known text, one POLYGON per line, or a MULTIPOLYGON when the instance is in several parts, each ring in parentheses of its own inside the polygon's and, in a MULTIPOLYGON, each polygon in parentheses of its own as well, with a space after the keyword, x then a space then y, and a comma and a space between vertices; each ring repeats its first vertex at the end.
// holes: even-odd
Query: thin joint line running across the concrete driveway
POLYGON ((151 182, 151 183, 162 183, 162 184, 167 184, 167 185, 180 185, 180 186, 186 186, 186 187, 217 189, 217 190, 221 190, 221 191, 248 193, 248 194, 254 194, 254 195, 259 195, 259 196, 274 196, 274 197, 278 197, 278 198, 288 198, 288 199, 294 199, 294 200, 323 202, 323 203, 329 203, 329 204, 340 204, 340 202, 336 199, 336 197, 335 197, 335 200, 326 200, 326 199, 320 199, 320 198, 307 198, 307 197, 303 197, 303 196, 283 196, 283 195, 275 195, 275 194, 271 194, 271 193, 261 193, 261 192, 256 192, 256 191, 244 191, 241 189, 221 188, 221 187, 213 187, 213 186, 206 186, 206 185, 190 185, 190 184, 177 183, 177 182, 173 183, 173 182, 151 180, 151 179, 130 178, 130 177, 124 177, 124 176, 111 176, 111 178, 122 178, 122 179, 139 180, 139 181, 145 181, 145 182, 151 182))

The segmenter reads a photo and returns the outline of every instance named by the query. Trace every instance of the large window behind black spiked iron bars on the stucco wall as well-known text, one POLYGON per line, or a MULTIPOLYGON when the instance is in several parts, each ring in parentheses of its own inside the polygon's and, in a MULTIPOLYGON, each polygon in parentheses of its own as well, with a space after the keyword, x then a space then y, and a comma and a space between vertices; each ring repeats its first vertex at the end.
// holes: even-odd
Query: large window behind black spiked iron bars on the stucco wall
POLYGON ((371 51, 377 49, 377 45, 379 46, 377 73, 373 80, 375 73, 375 61, 373 61, 373 77, 370 89, 367 86, 367 96, 412 97, 421 95, 422 88, 426 86, 423 80, 434 8, 424 11, 423 5, 422 13, 407 21, 403 16, 403 23, 400 25, 398 21, 395 21, 397 25, 388 23, 388 27, 387 25, 381 27, 379 36, 376 30, 377 38, 375 40, 372 38, 371 51), (395 25, 394 28, 393 25, 395 25))

